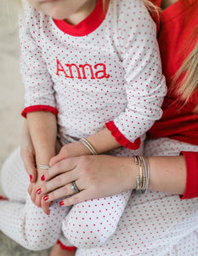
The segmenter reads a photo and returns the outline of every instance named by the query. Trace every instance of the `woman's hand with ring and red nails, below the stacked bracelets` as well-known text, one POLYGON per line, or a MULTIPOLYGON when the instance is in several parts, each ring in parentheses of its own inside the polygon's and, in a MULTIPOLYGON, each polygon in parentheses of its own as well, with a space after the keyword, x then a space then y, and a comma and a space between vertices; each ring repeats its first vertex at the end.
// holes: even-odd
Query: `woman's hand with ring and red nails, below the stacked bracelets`
POLYGON ((62 206, 110 195, 136 187, 139 166, 131 157, 87 155, 59 161, 44 174, 41 186, 42 206, 45 202, 69 196, 62 206), (71 182, 75 181, 79 193, 75 194, 71 182), (72 195, 72 196, 71 196, 72 195))

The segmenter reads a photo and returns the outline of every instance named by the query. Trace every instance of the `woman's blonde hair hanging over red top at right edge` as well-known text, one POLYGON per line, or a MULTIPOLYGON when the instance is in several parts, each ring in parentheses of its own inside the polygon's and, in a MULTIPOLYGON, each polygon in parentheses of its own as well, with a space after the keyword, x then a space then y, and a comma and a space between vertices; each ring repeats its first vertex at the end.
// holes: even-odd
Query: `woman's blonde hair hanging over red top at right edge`
MULTIPOLYGON (((198 35, 198 26, 196 26, 195 31, 190 36, 188 44, 198 35)), ((195 44, 194 49, 190 52, 190 55, 186 57, 182 66, 178 69, 176 73, 173 84, 176 84, 178 79, 182 77, 182 80, 178 82, 178 96, 187 103, 190 96, 198 89, 198 40, 195 44)), ((173 88, 172 88, 173 89, 173 88)))

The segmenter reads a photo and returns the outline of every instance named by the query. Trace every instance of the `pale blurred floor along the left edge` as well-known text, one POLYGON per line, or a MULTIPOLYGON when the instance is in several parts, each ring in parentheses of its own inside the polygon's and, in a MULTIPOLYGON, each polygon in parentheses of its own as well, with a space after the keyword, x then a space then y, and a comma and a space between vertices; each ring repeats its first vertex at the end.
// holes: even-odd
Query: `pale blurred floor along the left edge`
MULTIPOLYGON (((5 1, 8 0, 0 0, 0 17, 5 1)), ((0 19, 0 169, 3 160, 20 144, 22 109, 23 84, 20 78, 18 26, 8 19, 0 19)), ((1 186, 0 195, 3 195, 1 186)), ((4 236, 0 230, 0 256, 27 255, 48 256, 48 251, 27 251, 4 236)))

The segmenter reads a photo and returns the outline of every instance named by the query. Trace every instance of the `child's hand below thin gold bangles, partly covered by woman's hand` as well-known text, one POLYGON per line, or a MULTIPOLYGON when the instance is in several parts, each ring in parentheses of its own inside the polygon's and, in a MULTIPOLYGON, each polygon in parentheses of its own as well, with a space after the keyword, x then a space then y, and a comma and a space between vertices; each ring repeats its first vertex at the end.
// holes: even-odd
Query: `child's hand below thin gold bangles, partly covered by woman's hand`
POLYGON ((88 154, 91 154, 91 152, 81 142, 66 144, 60 149, 59 154, 55 155, 49 161, 49 166, 54 166, 60 160, 64 160, 66 158, 88 154))

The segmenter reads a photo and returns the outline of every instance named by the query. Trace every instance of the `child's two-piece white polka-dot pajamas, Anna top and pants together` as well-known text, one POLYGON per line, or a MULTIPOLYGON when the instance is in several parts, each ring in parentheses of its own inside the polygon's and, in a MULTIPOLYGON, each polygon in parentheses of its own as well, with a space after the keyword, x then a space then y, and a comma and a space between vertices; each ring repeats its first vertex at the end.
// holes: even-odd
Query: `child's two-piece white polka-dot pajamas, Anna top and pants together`
MULTIPOLYGON (((77 37, 63 32, 54 20, 30 7, 20 21, 20 40, 25 108, 56 108, 63 144, 88 137, 110 121, 128 141, 133 143, 141 137, 143 142, 145 132, 160 119, 165 79, 156 26, 140 1, 110 1, 100 26, 77 37)), ((143 143, 136 151, 118 148, 110 154, 130 156, 142 152, 143 143)), ((1 230, 7 236, 24 247, 40 250, 53 246, 62 230, 76 247, 89 250, 104 243, 110 247, 111 236, 117 236, 121 229, 119 223, 123 222, 122 212, 131 191, 86 201, 71 209, 59 207, 55 201, 46 217, 27 195, 29 179, 19 159, 19 152, 14 153, 3 166, 4 190, 12 200, 0 201, 0 216, 4 216, 1 230), (12 172, 18 174, 10 181, 12 172), (23 193, 20 180, 25 181, 23 193)), ((119 237, 117 246, 123 240, 119 237)))

